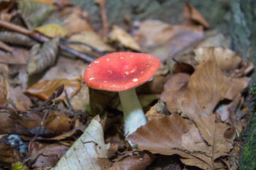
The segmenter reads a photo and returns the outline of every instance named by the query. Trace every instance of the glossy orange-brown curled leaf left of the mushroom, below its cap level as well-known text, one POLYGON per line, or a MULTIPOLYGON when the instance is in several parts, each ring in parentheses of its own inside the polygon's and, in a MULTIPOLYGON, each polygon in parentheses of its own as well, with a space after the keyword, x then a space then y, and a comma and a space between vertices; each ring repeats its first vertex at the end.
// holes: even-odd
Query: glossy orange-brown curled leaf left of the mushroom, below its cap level
MULTIPOLYGON (((53 91, 60 85, 64 84, 68 97, 72 97, 78 93, 82 84, 82 78, 79 75, 75 79, 51 79, 41 80, 36 84, 29 86, 24 93, 37 96, 43 100, 49 98, 53 91)), ((65 100, 65 93, 61 94, 58 99, 65 100)))

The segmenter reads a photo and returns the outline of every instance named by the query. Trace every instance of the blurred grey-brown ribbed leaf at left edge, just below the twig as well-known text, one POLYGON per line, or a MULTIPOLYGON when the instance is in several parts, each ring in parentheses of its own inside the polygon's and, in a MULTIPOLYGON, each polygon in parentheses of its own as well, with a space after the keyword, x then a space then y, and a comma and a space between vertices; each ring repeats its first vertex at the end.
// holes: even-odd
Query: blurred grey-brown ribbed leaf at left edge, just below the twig
POLYGON ((11 45, 22 45, 26 47, 36 45, 36 41, 32 38, 29 38, 28 36, 20 33, 14 33, 10 31, 1 31, 0 40, 11 45))

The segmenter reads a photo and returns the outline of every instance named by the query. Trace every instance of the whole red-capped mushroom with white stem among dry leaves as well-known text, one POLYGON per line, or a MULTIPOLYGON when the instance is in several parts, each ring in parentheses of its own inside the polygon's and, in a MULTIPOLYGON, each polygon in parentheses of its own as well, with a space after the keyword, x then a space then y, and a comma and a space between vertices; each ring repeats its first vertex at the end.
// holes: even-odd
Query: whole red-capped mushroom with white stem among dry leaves
POLYGON ((124 112, 124 134, 129 135, 146 118, 135 87, 148 81, 160 67, 153 55, 135 52, 114 52, 98 58, 85 69, 84 80, 92 89, 118 91, 124 112))

